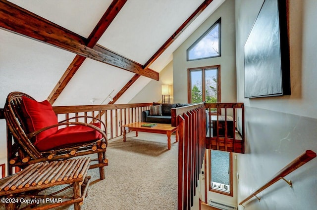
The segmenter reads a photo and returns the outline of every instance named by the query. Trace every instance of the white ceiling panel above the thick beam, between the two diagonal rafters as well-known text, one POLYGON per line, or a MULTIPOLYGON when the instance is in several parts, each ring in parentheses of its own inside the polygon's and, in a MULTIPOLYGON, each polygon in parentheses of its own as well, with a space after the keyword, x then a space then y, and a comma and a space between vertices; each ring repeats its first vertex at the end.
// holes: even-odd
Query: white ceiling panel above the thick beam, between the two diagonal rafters
POLYGON ((128 0, 98 43, 145 64, 202 2, 128 0))

